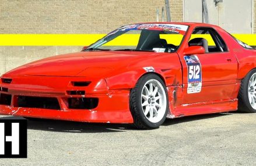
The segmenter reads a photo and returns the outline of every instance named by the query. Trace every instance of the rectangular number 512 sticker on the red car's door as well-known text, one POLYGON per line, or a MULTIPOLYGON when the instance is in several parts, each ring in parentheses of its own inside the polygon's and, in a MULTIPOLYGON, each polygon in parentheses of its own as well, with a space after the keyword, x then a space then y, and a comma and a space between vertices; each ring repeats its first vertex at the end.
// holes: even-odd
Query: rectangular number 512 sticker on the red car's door
POLYGON ((202 68, 197 55, 184 56, 188 67, 187 93, 199 93, 202 89, 202 68))

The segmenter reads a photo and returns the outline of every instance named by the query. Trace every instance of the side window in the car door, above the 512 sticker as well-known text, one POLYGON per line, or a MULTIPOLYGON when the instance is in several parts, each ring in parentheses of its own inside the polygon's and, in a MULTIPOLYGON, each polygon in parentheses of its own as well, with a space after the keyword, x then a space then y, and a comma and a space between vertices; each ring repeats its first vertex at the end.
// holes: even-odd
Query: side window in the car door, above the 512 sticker
POLYGON ((227 47, 219 34, 211 28, 200 27, 192 32, 188 46, 200 45, 205 48, 205 52, 224 52, 227 47))

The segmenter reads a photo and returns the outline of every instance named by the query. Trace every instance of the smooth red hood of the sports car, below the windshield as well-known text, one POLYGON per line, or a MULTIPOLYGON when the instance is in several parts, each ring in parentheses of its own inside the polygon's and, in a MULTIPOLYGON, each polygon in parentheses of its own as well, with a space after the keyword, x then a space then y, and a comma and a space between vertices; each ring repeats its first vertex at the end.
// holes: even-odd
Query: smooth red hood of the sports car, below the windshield
POLYGON ((99 76, 127 66, 135 59, 155 52, 90 51, 57 55, 27 63, 10 70, 5 76, 99 76))

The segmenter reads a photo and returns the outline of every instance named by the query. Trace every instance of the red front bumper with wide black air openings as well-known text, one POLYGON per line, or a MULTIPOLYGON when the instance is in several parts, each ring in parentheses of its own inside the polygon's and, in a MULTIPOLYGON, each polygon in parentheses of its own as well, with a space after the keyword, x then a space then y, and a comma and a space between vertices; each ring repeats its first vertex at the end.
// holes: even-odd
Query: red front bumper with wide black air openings
POLYGON ((88 80, 85 77, 47 77, 23 76, 12 78, 12 83, 0 83, 3 96, 10 96, 10 102, 0 104, 1 115, 26 116, 33 118, 61 119, 79 122, 133 123, 129 111, 129 89, 107 90, 100 87, 101 80, 93 80, 87 87, 73 87, 71 81, 88 80), (94 82, 96 82, 94 84, 94 82), (85 94, 68 94, 67 91, 85 91, 85 94), (57 98, 58 109, 19 107, 17 98, 51 97, 57 98), (99 103, 93 109, 71 109, 69 98, 98 98, 99 103))

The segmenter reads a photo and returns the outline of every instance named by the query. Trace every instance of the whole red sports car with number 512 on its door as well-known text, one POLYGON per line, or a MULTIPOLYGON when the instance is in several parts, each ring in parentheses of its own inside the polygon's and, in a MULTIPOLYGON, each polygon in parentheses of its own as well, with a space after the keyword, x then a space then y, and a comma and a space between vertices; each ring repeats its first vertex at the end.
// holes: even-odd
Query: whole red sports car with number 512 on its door
POLYGON ((5 73, 0 93, 2 115, 141 129, 166 117, 256 112, 256 50, 210 24, 130 24, 5 73))

